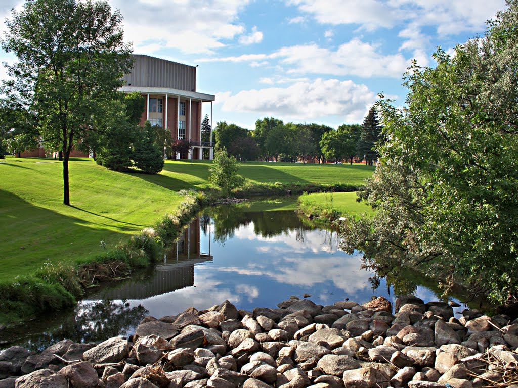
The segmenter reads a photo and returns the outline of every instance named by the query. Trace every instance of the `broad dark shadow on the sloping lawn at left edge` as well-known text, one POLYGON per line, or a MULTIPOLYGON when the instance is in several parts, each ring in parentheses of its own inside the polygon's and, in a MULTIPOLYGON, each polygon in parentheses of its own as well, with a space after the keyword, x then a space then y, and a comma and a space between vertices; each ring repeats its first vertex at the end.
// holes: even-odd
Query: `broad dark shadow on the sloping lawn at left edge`
POLYGON ((46 261, 96 255, 103 251, 100 241, 111 248, 129 238, 127 232, 140 229, 109 225, 110 230, 100 223, 35 206, 4 190, 0 190, 0 219, 1 280, 32 273, 46 261))

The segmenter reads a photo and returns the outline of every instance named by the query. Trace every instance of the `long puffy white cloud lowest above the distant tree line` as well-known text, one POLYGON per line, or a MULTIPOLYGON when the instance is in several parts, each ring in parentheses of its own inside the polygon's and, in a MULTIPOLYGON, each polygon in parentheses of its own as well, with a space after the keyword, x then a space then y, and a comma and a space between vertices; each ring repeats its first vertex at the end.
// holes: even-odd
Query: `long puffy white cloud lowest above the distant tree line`
POLYGON ((283 116, 292 120, 311 120, 339 115, 346 122, 361 122, 376 94, 352 81, 316 79, 296 82, 286 88, 270 87, 218 94, 222 111, 254 112, 264 116, 283 116), (221 99, 220 99, 221 98, 221 99))

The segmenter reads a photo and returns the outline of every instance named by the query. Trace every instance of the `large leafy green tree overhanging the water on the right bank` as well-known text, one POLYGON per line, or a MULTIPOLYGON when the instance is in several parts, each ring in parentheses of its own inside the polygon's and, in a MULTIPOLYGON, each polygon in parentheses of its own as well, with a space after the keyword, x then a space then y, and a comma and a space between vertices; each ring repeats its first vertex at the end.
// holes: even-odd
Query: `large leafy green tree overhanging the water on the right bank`
POLYGON ((405 74, 407 106, 378 103, 386 142, 343 248, 382 271, 420 267, 505 301, 518 294, 518 1, 435 68, 405 74))

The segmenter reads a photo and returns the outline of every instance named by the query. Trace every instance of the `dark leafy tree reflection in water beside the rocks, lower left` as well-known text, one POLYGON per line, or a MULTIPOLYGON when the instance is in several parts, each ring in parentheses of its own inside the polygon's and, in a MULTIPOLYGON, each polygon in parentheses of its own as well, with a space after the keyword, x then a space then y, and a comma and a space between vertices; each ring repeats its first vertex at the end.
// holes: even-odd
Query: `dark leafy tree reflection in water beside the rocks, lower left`
POLYGON ((41 351, 64 338, 74 342, 99 342, 127 333, 149 311, 142 305, 130 307, 127 301, 83 301, 75 314, 61 320, 61 324, 31 339, 28 346, 41 351))

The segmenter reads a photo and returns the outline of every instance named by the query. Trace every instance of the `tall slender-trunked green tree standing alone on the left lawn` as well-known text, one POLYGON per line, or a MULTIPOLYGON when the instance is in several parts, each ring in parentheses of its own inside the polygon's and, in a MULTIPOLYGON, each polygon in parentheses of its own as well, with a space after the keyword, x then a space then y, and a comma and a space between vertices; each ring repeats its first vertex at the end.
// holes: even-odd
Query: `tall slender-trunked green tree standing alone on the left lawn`
POLYGON ((2 48, 16 55, 4 93, 38 120, 41 141, 63 153, 63 203, 70 204, 68 159, 96 130, 106 102, 131 70, 122 16, 105 1, 27 0, 6 21, 2 48))

